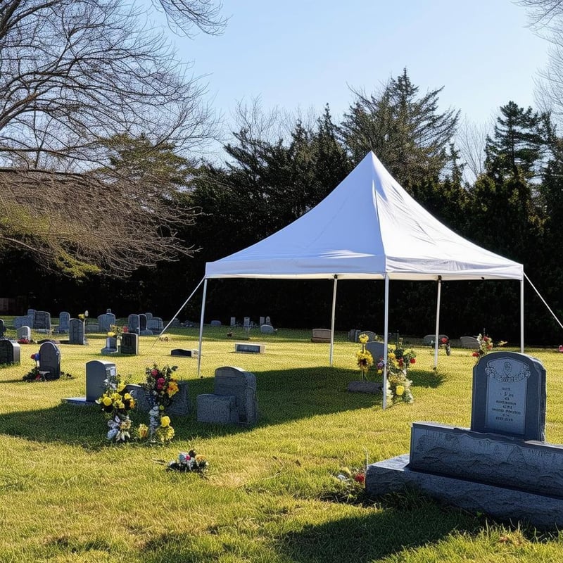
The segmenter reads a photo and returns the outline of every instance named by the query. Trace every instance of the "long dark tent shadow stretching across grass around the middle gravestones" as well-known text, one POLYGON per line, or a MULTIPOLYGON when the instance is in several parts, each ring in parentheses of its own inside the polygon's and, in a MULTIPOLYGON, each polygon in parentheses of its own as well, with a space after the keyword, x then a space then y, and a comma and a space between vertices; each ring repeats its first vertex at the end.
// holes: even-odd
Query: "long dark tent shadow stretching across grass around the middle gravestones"
MULTIPOLYGON (((176 435, 185 439, 190 439, 191 436, 229 436, 318 415, 381 408, 381 393, 347 391, 348 383, 359 379, 357 370, 309 367, 254 372, 254 374, 258 390, 257 424, 247 426, 196 422, 197 396, 213 393, 213 377, 205 377, 189 381, 190 412, 186 416, 172 416, 176 435)), ((435 387, 441 383, 441 379, 434 372, 413 372, 412 376, 415 381, 413 385, 435 387)), ((47 384, 51 385, 53 382, 47 384)), ((22 382, 22 385, 27 384, 22 382)), ((130 416, 134 425, 140 422, 146 424, 148 419, 146 412, 133 411, 130 416)), ((63 441, 79 443, 88 448, 99 447, 100 444, 105 443, 106 431, 106 420, 97 405, 61 403, 46 409, 0 415, 0 433, 35 441, 63 441)))

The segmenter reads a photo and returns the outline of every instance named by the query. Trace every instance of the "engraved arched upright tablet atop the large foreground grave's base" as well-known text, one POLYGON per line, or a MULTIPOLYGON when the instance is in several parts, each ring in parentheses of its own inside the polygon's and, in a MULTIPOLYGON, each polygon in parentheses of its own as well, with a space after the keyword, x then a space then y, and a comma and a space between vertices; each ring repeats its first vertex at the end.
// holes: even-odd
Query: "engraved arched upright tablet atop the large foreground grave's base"
POLYGON ((483 355, 473 369, 471 429, 545 440, 545 369, 516 352, 483 355))

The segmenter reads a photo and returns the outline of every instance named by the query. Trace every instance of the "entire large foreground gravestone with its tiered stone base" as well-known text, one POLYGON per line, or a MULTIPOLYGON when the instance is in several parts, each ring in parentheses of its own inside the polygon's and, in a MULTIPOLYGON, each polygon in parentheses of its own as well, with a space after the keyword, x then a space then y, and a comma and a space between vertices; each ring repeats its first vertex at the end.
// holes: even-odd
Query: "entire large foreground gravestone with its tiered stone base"
POLYGON ((471 512, 560 528, 563 445, 544 441, 545 385, 536 358, 483 355, 473 369, 471 428, 413 423, 410 454, 368 466, 368 495, 415 487, 471 512))

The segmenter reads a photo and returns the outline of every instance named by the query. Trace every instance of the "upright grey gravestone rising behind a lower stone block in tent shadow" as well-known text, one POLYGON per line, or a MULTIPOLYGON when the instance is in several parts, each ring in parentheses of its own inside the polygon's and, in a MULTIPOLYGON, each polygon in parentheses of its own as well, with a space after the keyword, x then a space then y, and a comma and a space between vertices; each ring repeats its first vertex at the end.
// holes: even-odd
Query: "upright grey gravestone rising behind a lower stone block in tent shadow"
POLYGON ((239 422, 255 424, 258 419, 256 378, 241 367, 217 367, 213 380, 214 395, 232 395, 239 410, 239 422))

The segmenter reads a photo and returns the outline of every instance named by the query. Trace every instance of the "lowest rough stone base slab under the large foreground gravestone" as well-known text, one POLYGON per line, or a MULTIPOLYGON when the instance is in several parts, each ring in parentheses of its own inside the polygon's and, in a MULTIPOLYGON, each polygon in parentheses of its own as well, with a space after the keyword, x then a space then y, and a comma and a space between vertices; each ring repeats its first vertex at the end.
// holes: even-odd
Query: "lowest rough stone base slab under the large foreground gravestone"
POLYGON ((563 499, 517 489, 465 481, 410 469, 409 455, 367 466, 365 487, 370 498, 415 487, 436 500, 501 520, 524 521, 543 529, 563 526, 563 499))

